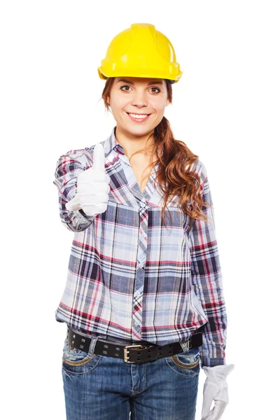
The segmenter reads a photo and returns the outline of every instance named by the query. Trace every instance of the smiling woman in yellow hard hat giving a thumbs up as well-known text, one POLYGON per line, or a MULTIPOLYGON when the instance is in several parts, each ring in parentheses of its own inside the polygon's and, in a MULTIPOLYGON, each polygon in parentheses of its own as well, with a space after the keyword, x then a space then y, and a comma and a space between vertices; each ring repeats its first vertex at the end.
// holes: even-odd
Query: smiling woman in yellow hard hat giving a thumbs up
POLYGON ((67 419, 194 420, 200 363, 203 419, 220 419, 234 365, 207 172, 164 116, 182 75, 174 48, 134 24, 98 72, 116 127, 62 155, 54 181, 75 232, 55 312, 67 419))

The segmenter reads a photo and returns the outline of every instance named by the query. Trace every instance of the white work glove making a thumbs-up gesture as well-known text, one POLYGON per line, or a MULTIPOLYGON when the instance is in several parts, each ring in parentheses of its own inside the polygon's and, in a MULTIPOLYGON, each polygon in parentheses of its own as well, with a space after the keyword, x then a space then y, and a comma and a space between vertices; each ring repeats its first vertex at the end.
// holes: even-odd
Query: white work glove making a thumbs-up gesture
POLYGON ((110 176, 105 172, 105 155, 102 144, 94 146, 93 165, 77 178, 77 193, 66 203, 69 211, 83 209, 87 216, 104 213, 108 206, 110 176))

